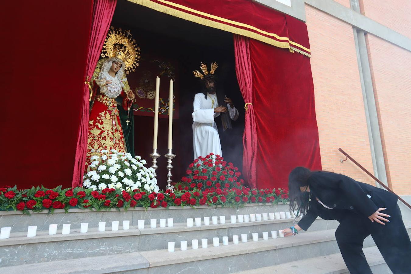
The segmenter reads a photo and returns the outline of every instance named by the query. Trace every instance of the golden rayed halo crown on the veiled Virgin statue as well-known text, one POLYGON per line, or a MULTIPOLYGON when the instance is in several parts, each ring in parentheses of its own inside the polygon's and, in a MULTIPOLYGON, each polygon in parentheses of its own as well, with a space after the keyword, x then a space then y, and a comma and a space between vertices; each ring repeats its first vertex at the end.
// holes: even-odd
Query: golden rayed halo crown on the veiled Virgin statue
POLYGON ((132 39, 129 30, 122 31, 121 28, 110 27, 102 50, 103 58, 120 58, 124 62, 126 74, 136 71, 139 66, 140 47, 136 45, 136 40, 132 39))

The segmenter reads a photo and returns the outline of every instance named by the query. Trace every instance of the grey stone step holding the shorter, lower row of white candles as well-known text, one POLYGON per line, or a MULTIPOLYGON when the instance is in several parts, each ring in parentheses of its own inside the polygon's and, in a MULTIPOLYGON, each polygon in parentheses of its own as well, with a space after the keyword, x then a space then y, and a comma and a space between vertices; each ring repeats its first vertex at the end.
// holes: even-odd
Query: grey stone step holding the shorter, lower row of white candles
MULTIPOLYGON (((411 226, 407 226, 407 228, 409 233, 411 233, 411 226)), ((175 252, 161 249, 40 262, 1 267, 0 272, 23 273, 30 269, 30 274, 117 272, 137 274, 191 274, 193 272, 225 274, 339 253, 334 233, 335 230, 319 230, 301 233, 297 237, 268 240, 260 238, 257 242, 240 242, 240 244, 229 242, 228 246, 223 246, 220 242, 218 247, 209 244, 206 249, 200 247, 193 250, 189 247, 187 251, 181 251, 179 244, 176 244, 175 252)), ((261 235, 259 236, 261 237, 261 235)), ((211 239, 209 239, 210 242, 211 239)), ((374 246, 371 237, 367 237, 364 246, 374 246)))

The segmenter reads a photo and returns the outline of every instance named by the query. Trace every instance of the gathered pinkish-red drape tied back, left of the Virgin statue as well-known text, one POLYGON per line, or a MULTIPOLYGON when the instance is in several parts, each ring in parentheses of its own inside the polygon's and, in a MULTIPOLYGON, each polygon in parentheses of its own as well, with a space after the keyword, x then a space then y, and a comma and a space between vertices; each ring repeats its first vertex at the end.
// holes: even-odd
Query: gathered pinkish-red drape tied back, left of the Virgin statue
MULTIPOLYGON (((97 61, 99 60, 100 52, 102 50, 104 39, 106 39, 107 32, 110 28, 111 19, 117 0, 95 0, 93 5, 93 17, 90 32, 90 39, 87 50, 87 63, 85 70, 85 81, 91 78, 97 61)), ((76 158, 74 162, 74 173, 72 187, 81 186, 84 166, 85 153, 87 150, 87 131, 88 131, 88 114, 89 114, 89 99, 90 90, 88 84, 82 88, 81 97, 81 121, 79 127, 79 135, 77 137, 76 158)))

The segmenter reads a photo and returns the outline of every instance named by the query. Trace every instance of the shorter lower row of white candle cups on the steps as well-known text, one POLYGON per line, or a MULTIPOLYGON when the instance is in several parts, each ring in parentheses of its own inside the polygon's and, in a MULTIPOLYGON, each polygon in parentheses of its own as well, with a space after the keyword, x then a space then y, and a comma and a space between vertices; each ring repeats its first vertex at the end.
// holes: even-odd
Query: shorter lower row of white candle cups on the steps
MULTIPOLYGON (((278 235, 280 238, 284 238, 284 233, 283 230, 278 230, 278 235)), ((277 238, 277 231, 272 230, 271 231, 271 237, 272 239, 277 238)), ((252 233, 252 239, 254 242, 258 241, 258 233, 252 233)), ((263 232, 263 240, 268 240, 268 232, 263 232)), ((241 242, 246 243, 247 242, 247 234, 241 234, 241 242)), ((239 237, 238 235, 233 235, 233 244, 238 244, 239 243, 239 237)), ((212 246, 219 246, 220 244, 220 238, 219 237, 213 237, 212 238, 212 246)), ((223 245, 227 246, 229 245, 229 237, 228 236, 223 236, 223 245)), ((201 239, 201 248, 207 248, 208 247, 208 239, 204 238, 201 239)), ((175 251, 175 242, 169 242, 169 252, 174 252, 175 251)), ((192 239, 191 241, 191 248, 192 249, 198 249, 199 248, 199 240, 198 239, 192 239)), ((180 241, 180 250, 181 251, 186 251, 187 250, 187 241, 180 241)))

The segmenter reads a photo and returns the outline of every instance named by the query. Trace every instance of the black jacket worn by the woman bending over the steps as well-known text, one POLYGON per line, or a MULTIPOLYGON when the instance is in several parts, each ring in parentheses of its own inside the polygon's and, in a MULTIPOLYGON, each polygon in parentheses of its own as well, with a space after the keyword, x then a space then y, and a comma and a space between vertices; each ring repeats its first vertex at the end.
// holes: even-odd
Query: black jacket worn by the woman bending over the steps
MULTIPOLYGON (((311 201, 308 202, 309 210, 298 222, 298 226, 303 230, 307 230, 317 216, 325 220, 340 221, 345 214, 353 211, 368 217, 379 207, 395 207, 398 200, 395 194, 384 189, 357 182, 337 173, 313 172, 308 185, 312 195, 311 201), (323 207, 316 198, 332 210, 323 207)), ((308 195, 306 196, 308 199, 308 195)))

